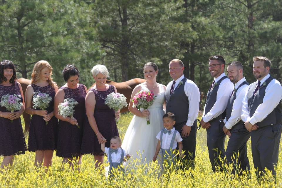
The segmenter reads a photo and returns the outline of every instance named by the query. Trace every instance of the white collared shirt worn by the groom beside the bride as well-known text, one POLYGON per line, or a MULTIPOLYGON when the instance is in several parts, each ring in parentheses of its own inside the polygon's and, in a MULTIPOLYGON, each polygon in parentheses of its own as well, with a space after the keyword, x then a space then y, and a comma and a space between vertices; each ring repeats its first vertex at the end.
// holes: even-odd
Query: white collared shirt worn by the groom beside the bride
MULTIPOLYGON (((184 78, 184 75, 180 76, 180 78, 178 78, 177 80, 175 80, 175 84, 174 84, 174 89, 177 88, 177 85, 179 84, 179 82, 184 78)), ((184 85, 184 92, 185 95, 188 97, 189 100, 189 113, 188 113, 188 119, 186 122, 186 125, 188 126, 192 126, 194 121, 196 120, 196 118, 198 117, 198 113, 199 113, 199 103, 200 103, 200 91, 198 86, 189 79, 186 79, 186 83, 184 85)), ((173 82, 173 81, 171 81, 173 82)), ((170 82, 168 83, 168 85, 170 84, 170 82)))

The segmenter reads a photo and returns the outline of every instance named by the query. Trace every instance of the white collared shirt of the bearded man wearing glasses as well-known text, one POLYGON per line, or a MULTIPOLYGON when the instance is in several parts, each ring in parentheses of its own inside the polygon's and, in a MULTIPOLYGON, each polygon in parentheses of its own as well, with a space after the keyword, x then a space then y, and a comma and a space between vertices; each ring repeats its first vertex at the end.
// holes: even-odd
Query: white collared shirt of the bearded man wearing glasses
MULTIPOLYGON (((222 73, 219 77, 215 78, 215 82, 218 82, 222 77, 225 76, 225 73, 222 73)), ((219 84, 217 95, 216 95, 216 102, 212 109, 205 115, 206 104, 204 107, 204 113, 202 119, 204 122, 209 122, 210 120, 216 118, 220 114, 224 112, 227 107, 227 103, 229 97, 234 89, 234 84, 229 79, 224 79, 219 84)))

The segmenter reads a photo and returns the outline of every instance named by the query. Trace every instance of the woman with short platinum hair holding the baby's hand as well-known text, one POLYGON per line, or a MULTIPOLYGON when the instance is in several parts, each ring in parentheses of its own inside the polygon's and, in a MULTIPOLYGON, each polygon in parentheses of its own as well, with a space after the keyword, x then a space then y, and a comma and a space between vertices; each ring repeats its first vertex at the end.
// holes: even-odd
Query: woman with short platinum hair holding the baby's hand
POLYGON ((100 143, 105 143, 110 147, 110 139, 119 136, 115 117, 119 117, 119 112, 110 109, 105 105, 107 95, 112 92, 117 93, 113 85, 106 84, 108 70, 103 65, 96 65, 91 70, 96 84, 91 88, 85 98, 85 107, 87 120, 83 130, 83 139, 81 144, 82 154, 94 155, 95 167, 104 161, 104 153, 101 150, 100 143))

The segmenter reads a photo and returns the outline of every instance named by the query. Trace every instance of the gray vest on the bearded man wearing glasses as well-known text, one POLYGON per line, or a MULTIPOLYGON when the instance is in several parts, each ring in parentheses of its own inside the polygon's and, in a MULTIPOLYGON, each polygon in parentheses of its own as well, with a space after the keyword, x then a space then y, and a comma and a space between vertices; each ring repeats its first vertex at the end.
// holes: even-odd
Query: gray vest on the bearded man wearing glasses
MULTIPOLYGON (((219 85, 221 83, 222 80, 224 79, 229 79, 227 76, 224 76, 222 78, 220 78, 216 83, 218 83, 217 85, 214 85, 213 88, 209 89, 208 94, 207 94, 207 102, 206 102, 206 108, 205 108, 205 115, 212 109, 212 107, 214 106, 214 103, 216 102, 216 95, 217 95, 217 90, 219 88, 219 85)), ((223 119, 225 118, 226 115, 226 110, 224 110, 224 112, 222 114, 220 114, 219 116, 217 116, 214 119, 223 119)))

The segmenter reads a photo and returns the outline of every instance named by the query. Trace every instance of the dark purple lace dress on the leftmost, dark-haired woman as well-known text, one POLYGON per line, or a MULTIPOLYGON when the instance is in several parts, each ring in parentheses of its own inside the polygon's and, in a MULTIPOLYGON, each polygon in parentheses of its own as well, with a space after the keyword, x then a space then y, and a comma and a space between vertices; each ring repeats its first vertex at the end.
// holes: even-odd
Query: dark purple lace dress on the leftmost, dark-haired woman
MULTIPOLYGON (((17 82, 15 85, 0 85, 0 99, 6 94, 21 95, 21 91, 17 82)), ((23 98, 21 97, 21 102, 23 98)), ((5 107, 0 106, 1 112, 7 112, 5 107)), ((16 111, 15 111, 16 112, 16 111)), ((0 117, 0 156, 20 155, 26 151, 26 141, 24 139, 21 118, 11 120, 0 117)))

